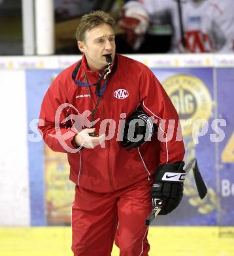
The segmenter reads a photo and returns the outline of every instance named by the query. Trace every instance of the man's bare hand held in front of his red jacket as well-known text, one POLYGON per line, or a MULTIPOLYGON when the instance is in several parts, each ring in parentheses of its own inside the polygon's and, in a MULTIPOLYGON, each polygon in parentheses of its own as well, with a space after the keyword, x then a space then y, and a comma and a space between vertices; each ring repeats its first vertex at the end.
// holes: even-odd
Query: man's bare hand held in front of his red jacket
POLYGON ((103 140, 105 139, 105 135, 100 135, 98 137, 92 137, 89 135, 89 133, 94 133, 95 128, 86 128, 80 133, 77 133, 74 137, 75 144, 77 147, 82 146, 83 148, 95 148, 96 146, 99 146, 103 140))

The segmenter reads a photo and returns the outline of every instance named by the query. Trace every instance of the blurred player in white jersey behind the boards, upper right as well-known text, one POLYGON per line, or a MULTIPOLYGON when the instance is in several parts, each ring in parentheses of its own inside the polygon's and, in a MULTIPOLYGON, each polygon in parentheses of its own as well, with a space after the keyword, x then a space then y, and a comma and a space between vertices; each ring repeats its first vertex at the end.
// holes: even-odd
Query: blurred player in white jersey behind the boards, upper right
POLYGON ((232 0, 128 1, 120 26, 135 51, 156 53, 159 38, 171 34, 173 53, 233 53, 232 5, 232 0))

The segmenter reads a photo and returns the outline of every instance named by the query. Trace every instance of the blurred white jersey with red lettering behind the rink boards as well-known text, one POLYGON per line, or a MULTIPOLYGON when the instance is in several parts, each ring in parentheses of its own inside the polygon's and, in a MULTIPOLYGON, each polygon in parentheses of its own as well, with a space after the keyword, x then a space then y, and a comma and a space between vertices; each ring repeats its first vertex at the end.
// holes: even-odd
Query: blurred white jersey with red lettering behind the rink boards
MULTIPOLYGON (((151 19, 151 26, 163 12, 171 14, 173 43, 171 51, 181 52, 182 43, 178 3, 175 0, 129 1, 126 5, 141 5, 151 19)), ((190 53, 230 53, 234 50, 233 0, 181 0, 182 22, 186 48, 190 53)))

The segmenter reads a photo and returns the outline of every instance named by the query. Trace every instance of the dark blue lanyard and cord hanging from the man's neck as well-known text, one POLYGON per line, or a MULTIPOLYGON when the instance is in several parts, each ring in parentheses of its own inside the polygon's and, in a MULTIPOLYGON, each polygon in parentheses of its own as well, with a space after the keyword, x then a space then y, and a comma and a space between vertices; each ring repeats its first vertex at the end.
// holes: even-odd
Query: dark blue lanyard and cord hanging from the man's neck
MULTIPOLYGON (((96 112, 97 112, 97 107, 99 106, 99 102, 100 102, 100 100, 101 100, 101 97, 103 96, 103 93, 104 93, 105 89, 107 88, 107 85, 108 85, 108 83, 109 83, 109 81, 110 81, 110 78, 111 78, 112 75, 114 75, 114 73, 116 72, 117 63, 118 63, 118 59, 117 59, 117 57, 115 56, 115 57, 114 57, 114 66, 113 66, 113 68, 112 68, 112 72, 109 72, 109 70, 107 70, 107 68, 105 68, 104 74, 102 74, 101 77, 99 77, 99 80, 97 81, 97 83, 93 83, 93 84, 88 83, 88 78, 87 78, 86 72, 84 72, 84 78, 86 79, 86 82, 85 82, 85 83, 84 83, 84 82, 81 82, 81 81, 76 81, 76 80, 75 80, 76 75, 77 75, 77 73, 78 73, 78 70, 79 70, 79 68, 80 68, 81 61, 78 62, 78 64, 76 65, 75 70, 73 71, 72 78, 73 78, 73 81, 75 82, 75 84, 78 85, 78 86, 81 86, 81 87, 88 87, 88 91, 89 91, 89 93, 90 93, 90 96, 91 96, 90 86, 92 86, 92 85, 97 86, 96 91, 95 91, 95 95, 98 96, 98 99, 97 99, 97 103, 95 104, 95 108, 94 108, 93 111, 92 111, 92 120, 91 120, 91 122, 94 121, 94 117, 95 117, 95 114, 96 114, 96 112), (109 73, 110 73, 110 74, 109 74, 109 73), (105 79, 105 77, 107 77, 107 78, 105 79), (103 87, 100 88, 100 87, 101 87, 101 81, 103 80, 103 78, 105 79, 105 83, 104 83, 103 87)), ((90 127, 90 128, 91 128, 91 127, 90 127)))

